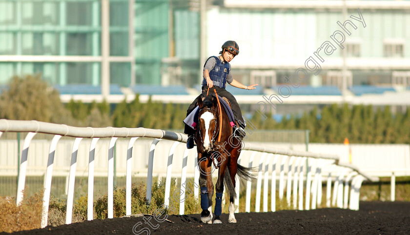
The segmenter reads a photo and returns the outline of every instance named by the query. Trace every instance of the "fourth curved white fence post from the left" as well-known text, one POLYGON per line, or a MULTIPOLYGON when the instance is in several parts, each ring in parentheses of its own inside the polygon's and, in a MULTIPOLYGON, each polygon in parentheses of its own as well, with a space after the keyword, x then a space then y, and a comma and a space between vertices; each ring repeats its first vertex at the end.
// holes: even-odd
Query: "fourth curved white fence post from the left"
POLYGON ((87 193, 87 220, 93 220, 94 203, 94 158, 95 147, 100 138, 93 138, 90 144, 90 155, 88 157, 88 193, 87 193))

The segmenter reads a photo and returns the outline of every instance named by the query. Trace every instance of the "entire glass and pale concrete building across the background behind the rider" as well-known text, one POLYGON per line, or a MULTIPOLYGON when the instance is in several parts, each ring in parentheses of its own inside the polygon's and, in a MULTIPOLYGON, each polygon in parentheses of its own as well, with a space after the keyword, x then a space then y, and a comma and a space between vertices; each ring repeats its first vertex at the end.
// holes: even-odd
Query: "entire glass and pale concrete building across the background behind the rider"
MULTIPOLYGON (((1 0, 0 85, 14 75, 41 73, 52 85, 183 85, 201 79, 200 61, 226 40, 241 54, 234 77, 270 88, 304 65, 344 22, 342 0, 1 0), (322 4, 323 3, 323 4, 322 4), (201 52, 205 48, 205 53, 201 52)), ((410 85, 410 1, 346 1, 352 20, 346 46, 349 85, 410 85), (356 4, 351 6, 349 4, 356 4)), ((349 27, 349 26, 348 26, 349 27)), ((340 85, 342 51, 325 58, 307 85, 340 85)), ((103 90, 103 89, 102 89, 103 90)))

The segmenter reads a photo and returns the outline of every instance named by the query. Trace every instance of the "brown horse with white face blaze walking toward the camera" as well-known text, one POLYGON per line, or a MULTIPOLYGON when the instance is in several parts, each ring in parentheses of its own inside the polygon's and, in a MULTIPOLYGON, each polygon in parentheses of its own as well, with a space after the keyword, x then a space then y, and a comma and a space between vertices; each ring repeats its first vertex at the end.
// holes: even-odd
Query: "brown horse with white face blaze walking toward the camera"
MULTIPOLYGON (((216 91, 215 91, 216 93, 216 91)), ((198 124, 194 135, 198 152, 198 167, 200 170, 199 185, 201 188, 201 221, 212 223, 212 196, 214 185, 212 182, 212 164, 219 168, 216 182, 215 220, 213 223, 222 223, 222 195, 225 187, 229 192, 229 223, 236 223, 233 201, 235 193, 235 176, 245 180, 253 180, 247 168, 238 164, 238 157, 242 149, 242 139, 233 135, 232 127, 225 109, 221 107, 218 96, 210 94, 203 100, 198 97, 199 106, 198 124), (215 163, 216 161, 216 163, 215 163), (226 179, 226 180, 224 180, 226 179)))

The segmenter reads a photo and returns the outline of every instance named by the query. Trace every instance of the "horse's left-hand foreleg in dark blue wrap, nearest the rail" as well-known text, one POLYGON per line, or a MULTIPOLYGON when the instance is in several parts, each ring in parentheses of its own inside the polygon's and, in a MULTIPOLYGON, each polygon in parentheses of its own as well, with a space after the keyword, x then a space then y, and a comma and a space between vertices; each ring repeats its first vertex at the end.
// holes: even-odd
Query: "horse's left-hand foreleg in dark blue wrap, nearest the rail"
MULTIPOLYGON (((209 206, 212 208, 212 190, 208 187, 208 177, 211 175, 211 169, 208 167, 208 159, 202 158, 202 155, 198 154, 198 167, 200 171, 199 185, 201 187, 201 221, 204 223, 212 223, 212 214, 210 213, 209 206), (209 189, 209 190, 208 190, 209 189), (210 197, 210 200, 209 200, 210 197), (210 202, 210 203, 209 203, 210 202)), ((212 183, 212 178, 211 178, 212 183)))

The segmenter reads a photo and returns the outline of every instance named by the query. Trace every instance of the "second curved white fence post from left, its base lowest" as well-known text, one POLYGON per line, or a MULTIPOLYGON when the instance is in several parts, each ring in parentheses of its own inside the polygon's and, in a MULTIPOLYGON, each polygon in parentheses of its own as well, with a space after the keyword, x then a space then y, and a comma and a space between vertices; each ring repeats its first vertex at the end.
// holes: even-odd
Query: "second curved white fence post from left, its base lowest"
POLYGON ((44 195, 41 211, 41 228, 45 228, 45 226, 47 226, 48 205, 50 202, 51 191, 51 179, 53 178, 54 154, 56 152, 57 143, 59 142, 60 138, 60 135, 55 135, 53 137, 50 143, 50 150, 48 151, 48 162, 47 169, 45 171, 44 195))

